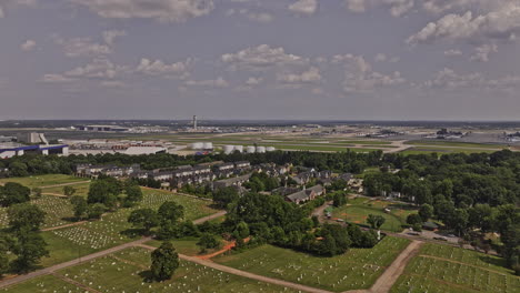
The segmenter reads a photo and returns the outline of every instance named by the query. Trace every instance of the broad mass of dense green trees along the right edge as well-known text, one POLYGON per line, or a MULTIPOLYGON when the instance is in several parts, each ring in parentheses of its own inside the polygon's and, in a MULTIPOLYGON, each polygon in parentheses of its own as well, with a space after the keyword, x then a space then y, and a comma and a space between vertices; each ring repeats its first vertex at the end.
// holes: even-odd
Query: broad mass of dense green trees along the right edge
POLYGON ((511 267, 520 266, 520 153, 387 154, 382 163, 400 171, 367 174, 368 195, 401 192, 421 205, 409 223, 440 220, 481 247, 490 244, 484 233, 497 232, 501 245, 494 249, 511 267))

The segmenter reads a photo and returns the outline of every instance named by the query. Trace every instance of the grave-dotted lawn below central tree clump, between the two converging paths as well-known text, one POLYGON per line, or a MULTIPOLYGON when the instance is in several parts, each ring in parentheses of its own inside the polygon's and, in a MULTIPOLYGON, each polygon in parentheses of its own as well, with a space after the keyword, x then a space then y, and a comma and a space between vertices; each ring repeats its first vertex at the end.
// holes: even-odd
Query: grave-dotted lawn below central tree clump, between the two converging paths
POLYGON ((406 239, 387 236, 373 249, 351 249, 333 257, 262 245, 213 261, 260 275, 342 292, 370 287, 409 243, 406 239))

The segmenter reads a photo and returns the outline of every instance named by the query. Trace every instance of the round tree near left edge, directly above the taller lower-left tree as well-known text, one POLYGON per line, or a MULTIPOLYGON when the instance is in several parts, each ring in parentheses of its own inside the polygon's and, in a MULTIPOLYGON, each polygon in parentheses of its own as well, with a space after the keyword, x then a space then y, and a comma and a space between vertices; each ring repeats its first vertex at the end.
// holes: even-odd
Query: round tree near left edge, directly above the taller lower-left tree
POLYGON ((38 231, 43 224, 46 212, 30 203, 19 203, 8 209, 9 228, 19 232, 22 230, 38 231))

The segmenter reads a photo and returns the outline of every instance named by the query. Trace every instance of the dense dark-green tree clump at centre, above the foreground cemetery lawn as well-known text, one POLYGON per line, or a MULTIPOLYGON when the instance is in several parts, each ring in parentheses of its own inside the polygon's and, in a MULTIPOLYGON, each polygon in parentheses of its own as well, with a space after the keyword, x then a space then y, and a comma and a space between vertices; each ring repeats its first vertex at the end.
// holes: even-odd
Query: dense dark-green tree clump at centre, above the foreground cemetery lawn
POLYGON ((371 247, 372 232, 343 228, 338 224, 317 226, 309 215, 324 199, 308 205, 296 205, 277 195, 248 193, 229 204, 224 230, 237 239, 237 246, 250 236, 250 243, 270 243, 317 255, 332 256, 344 253, 351 245, 371 247), (356 238, 356 240, 352 240, 356 238))

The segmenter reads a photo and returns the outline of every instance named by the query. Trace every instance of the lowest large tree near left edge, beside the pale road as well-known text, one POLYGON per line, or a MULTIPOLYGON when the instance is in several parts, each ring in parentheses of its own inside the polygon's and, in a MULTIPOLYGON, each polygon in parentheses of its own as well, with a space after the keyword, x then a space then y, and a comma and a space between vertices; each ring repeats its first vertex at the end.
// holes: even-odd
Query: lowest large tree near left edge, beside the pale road
POLYGON ((12 269, 19 273, 27 273, 40 262, 43 256, 49 256, 49 251, 46 249, 47 243, 38 232, 30 229, 23 229, 17 235, 17 242, 13 245, 13 252, 17 259, 12 261, 12 269))

